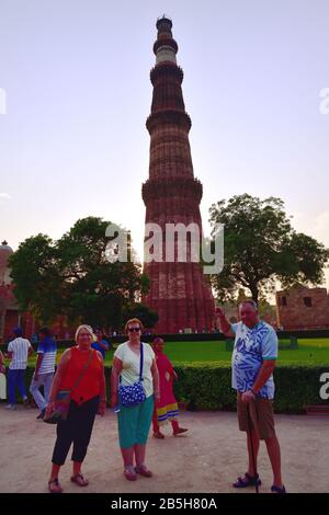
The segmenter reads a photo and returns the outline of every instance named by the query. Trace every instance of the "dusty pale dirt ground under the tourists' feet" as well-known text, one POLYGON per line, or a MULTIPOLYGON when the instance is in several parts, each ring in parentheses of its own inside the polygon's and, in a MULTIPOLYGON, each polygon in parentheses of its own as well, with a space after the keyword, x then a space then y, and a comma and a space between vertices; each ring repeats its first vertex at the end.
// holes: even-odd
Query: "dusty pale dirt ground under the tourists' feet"
MULTIPOLYGON (((7 411, 0 404, 0 492, 46 492, 55 427, 36 420, 37 410, 19 407, 7 411)), ((173 437, 166 426, 166 438, 150 437, 147 465, 152 478, 129 482, 123 476, 117 446, 116 415, 106 411, 97 417, 83 472, 87 488, 69 481, 70 457, 63 467, 60 482, 66 493, 189 493, 235 492, 230 487, 246 471, 246 436, 237 428, 235 413, 184 412, 184 435, 173 437)), ((329 492, 329 417, 276 415, 276 432, 282 448, 283 480, 288 492, 329 492)), ((269 492, 272 474, 264 443, 259 455, 261 492, 269 492)))

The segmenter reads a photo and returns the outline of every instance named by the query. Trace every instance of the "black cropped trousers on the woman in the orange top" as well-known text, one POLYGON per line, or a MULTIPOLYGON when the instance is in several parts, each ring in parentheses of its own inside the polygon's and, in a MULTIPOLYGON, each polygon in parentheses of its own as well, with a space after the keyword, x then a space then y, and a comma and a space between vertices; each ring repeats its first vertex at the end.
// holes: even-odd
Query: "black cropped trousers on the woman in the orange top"
POLYGON ((54 465, 65 464, 71 443, 73 443, 72 461, 83 461, 99 403, 99 396, 81 405, 71 400, 67 420, 57 424, 57 439, 52 459, 54 465))

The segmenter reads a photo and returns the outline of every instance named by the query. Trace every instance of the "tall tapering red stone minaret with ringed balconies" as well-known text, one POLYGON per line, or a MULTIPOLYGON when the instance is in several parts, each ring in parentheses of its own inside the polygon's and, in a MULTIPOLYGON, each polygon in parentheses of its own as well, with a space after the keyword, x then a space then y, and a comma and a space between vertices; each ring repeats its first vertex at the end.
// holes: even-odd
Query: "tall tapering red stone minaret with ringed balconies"
MULTIPOLYGON (((154 85, 151 114, 146 126, 150 134, 149 179, 143 184, 146 222, 156 222, 164 234, 166 224, 194 222, 202 233, 200 202, 202 184, 194 179, 189 131, 191 118, 185 112, 183 71, 177 66, 178 44, 168 18, 157 22, 154 45, 156 66, 150 72, 154 85)), ((166 244, 164 238, 163 242, 166 244)), ((189 255, 189 253, 188 253, 189 255)), ((150 291, 144 301, 159 313, 156 330, 179 332, 185 328, 201 332, 214 325, 214 299, 200 263, 145 263, 150 291)))

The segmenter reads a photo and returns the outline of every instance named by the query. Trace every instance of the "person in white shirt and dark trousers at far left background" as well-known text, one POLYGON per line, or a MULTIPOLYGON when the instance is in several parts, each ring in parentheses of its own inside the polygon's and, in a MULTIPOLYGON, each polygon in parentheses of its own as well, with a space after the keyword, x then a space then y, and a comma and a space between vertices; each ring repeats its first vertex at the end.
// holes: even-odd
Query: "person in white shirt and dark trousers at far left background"
POLYGON ((33 353, 33 347, 29 340, 23 337, 21 328, 15 328, 13 334, 16 336, 8 345, 8 357, 11 359, 8 373, 9 404, 8 410, 15 410, 15 388, 18 386, 23 402, 27 404, 27 396, 25 390, 25 370, 27 358, 33 353))

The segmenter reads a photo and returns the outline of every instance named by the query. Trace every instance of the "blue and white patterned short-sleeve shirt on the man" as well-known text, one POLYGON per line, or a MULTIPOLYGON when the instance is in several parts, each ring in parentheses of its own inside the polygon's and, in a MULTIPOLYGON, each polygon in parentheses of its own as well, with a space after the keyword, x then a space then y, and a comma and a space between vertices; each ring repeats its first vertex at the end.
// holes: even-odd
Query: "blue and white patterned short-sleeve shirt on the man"
MULTIPOLYGON (((231 386, 235 390, 250 390, 265 359, 277 358, 277 336, 274 329, 261 321, 249 329, 242 322, 232 323, 235 346, 231 356, 231 386)), ((259 394, 266 399, 274 398, 273 375, 261 388, 259 394)))

